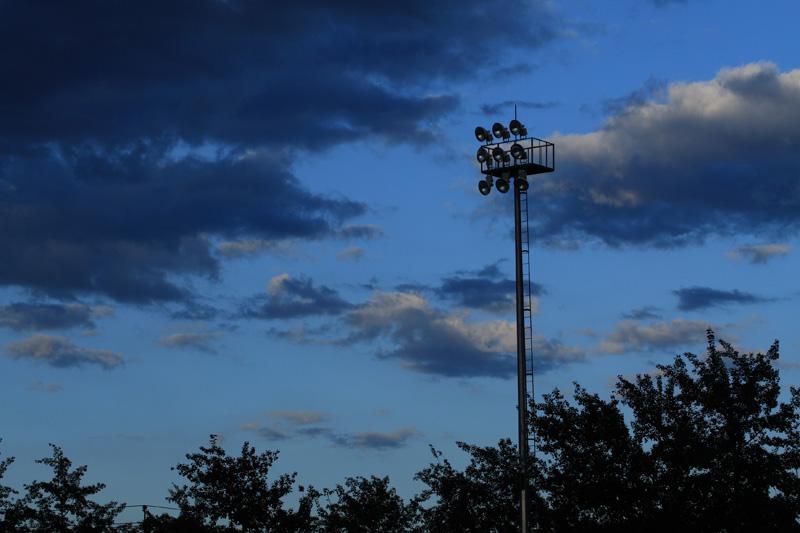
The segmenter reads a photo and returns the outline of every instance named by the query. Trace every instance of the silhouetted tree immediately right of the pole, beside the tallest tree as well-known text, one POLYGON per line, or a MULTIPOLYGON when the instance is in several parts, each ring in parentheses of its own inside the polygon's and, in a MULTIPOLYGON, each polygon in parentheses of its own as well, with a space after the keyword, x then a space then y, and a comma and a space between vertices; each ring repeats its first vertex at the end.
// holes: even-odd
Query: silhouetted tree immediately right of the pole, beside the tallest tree
POLYGON ((574 403, 556 389, 537 406, 532 520, 544 530, 638 531, 652 495, 642 483, 643 452, 614 399, 575 384, 574 403))

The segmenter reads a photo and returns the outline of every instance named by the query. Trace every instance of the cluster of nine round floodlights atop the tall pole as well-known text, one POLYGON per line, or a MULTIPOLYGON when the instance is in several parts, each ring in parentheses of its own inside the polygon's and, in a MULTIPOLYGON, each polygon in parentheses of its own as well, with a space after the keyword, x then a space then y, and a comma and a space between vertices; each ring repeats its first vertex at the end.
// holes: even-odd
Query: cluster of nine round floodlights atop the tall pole
POLYGON ((481 146, 477 154, 481 169, 486 168, 485 171, 482 170, 486 174, 486 178, 478 182, 478 190, 484 196, 491 192, 493 182, 498 191, 507 193, 512 175, 515 178, 515 187, 521 191, 528 190, 528 173, 525 168, 521 168, 521 165, 528 160, 528 150, 518 142, 514 142, 508 152, 500 146, 500 143, 494 147, 488 146, 494 139, 509 142, 512 135, 515 141, 519 141, 528 136, 528 130, 516 119, 512 120, 507 128, 499 122, 495 122, 491 130, 480 126, 475 128, 475 138, 487 144, 487 146, 481 146), (497 179, 495 180, 493 176, 496 176, 497 179))

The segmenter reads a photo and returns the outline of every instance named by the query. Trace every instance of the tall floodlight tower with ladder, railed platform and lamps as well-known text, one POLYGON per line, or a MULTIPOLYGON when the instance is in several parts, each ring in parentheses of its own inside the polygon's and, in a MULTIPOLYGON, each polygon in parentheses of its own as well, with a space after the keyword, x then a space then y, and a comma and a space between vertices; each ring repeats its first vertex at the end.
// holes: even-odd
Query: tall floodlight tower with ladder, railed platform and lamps
POLYGON ((528 137, 528 130, 516 118, 509 123, 508 128, 499 122, 491 130, 479 126, 475 128, 475 138, 484 143, 477 153, 481 173, 486 176, 478 182, 481 194, 489 194, 493 183, 501 193, 508 192, 512 180, 514 185, 520 532, 528 533, 528 382, 531 384, 531 391, 533 390, 528 176, 555 170, 555 145, 528 137), (498 142, 493 142, 495 139, 498 142))

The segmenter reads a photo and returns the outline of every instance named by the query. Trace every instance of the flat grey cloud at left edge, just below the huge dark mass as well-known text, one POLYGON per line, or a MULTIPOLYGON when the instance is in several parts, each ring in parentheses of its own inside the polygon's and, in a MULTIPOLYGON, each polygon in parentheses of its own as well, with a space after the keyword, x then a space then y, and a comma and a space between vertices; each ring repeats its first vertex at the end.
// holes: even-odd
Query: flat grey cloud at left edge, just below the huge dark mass
POLYGON ((42 331, 95 327, 92 317, 109 316, 109 307, 94 309, 82 304, 14 302, 0 307, 0 326, 16 331, 42 331))

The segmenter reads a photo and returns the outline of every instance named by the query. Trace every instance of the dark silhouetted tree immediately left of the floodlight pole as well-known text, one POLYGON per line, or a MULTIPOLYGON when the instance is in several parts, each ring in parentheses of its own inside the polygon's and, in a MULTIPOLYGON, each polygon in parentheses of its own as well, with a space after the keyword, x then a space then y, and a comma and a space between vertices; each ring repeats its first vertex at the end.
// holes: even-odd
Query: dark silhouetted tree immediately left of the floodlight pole
POLYGON ((519 475, 517 449, 509 439, 497 448, 456 443, 469 453, 470 464, 461 472, 442 452, 431 447, 435 462, 414 479, 428 486, 417 497, 423 531, 519 531, 519 475))

